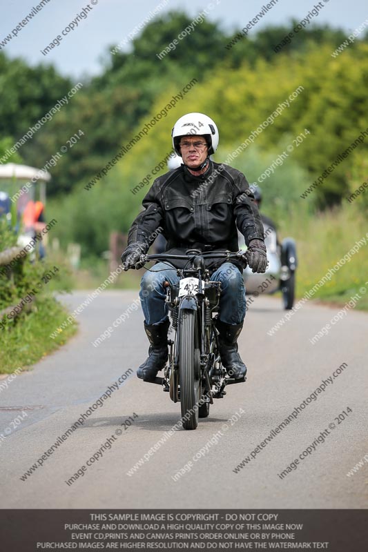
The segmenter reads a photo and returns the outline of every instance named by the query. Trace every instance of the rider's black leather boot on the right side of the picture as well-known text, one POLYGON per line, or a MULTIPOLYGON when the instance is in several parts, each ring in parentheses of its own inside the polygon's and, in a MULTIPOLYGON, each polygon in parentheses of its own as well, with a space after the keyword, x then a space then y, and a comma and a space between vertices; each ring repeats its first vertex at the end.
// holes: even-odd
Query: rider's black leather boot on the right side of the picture
POLYGON ((225 324, 217 318, 216 328, 219 331, 219 353, 222 366, 230 377, 235 380, 246 375, 246 366, 238 353, 238 337, 242 331, 242 324, 225 324))

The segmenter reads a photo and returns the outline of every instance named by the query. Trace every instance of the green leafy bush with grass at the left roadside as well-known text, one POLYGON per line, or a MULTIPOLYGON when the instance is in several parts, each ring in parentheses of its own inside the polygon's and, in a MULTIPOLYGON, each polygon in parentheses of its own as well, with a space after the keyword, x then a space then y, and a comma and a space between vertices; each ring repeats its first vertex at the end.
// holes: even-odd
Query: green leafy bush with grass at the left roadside
MULTIPOLYGON (((17 244, 17 235, 0 218, 0 251, 17 244)), ((4 268, 0 266, 0 268, 4 268)), ((0 322, 0 373, 37 362, 75 333, 76 324, 57 339, 50 339, 50 328, 59 326, 68 316, 53 297, 52 289, 68 290, 68 269, 56 266, 52 259, 40 261, 28 255, 11 270, 0 271, 0 311, 10 306, 24 306, 14 317, 3 313, 0 322)))

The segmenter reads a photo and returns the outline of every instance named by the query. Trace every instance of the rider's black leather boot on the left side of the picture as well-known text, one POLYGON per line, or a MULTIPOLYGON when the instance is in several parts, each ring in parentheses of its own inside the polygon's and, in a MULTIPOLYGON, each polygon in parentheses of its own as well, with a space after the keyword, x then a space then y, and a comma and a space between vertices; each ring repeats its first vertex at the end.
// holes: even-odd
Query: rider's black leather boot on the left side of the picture
POLYGON ((168 359, 167 332, 170 326, 169 319, 160 324, 146 324, 144 331, 150 342, 148 358, 137 369, 137 376, 145 382, 153 382, 157 372, 164 368, 168 359))

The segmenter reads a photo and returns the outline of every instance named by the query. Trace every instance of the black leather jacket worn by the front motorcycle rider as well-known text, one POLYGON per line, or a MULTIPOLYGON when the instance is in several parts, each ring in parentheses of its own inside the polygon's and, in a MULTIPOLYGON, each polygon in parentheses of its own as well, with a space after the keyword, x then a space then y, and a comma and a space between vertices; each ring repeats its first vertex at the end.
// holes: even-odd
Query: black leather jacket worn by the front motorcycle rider
MULTIPOLYGON (((237 226, 246 245, 253 238, 263 241, 262 221, 249 184, 242 172, 229 165, 210 160, 209 168, 198 177, 184 165, 166 172, 155 179, 142 204, 144 211, 130 227, 128 244, 151 245, 159 227, 168 241, 166 253, 181 254, 189 248, 238 251, 237 226)), ((177 268, 185 264, 170 262, 177 268)), ((212 261, 211 268, 223 262, 212 261)))

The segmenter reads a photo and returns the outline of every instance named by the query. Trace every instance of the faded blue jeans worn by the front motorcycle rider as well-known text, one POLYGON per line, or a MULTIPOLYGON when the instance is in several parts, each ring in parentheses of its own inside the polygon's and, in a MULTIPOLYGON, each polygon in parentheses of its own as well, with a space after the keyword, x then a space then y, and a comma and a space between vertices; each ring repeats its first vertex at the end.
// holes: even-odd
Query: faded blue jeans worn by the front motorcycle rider
MULTIPOLYGON (((166 290, 162 284, 165 280, 170 284, 177 284, 179 279, 176 268, 166 262, 155 264, 144 274, 139 297, 146 324, 159 324, 167 318, 166 290)), ((240 270, 231 263, 224 263, 211 275, 211 281, 221 282, 220 320, 225 324, 243 322, 246 310, 245 288, 240 270)))

